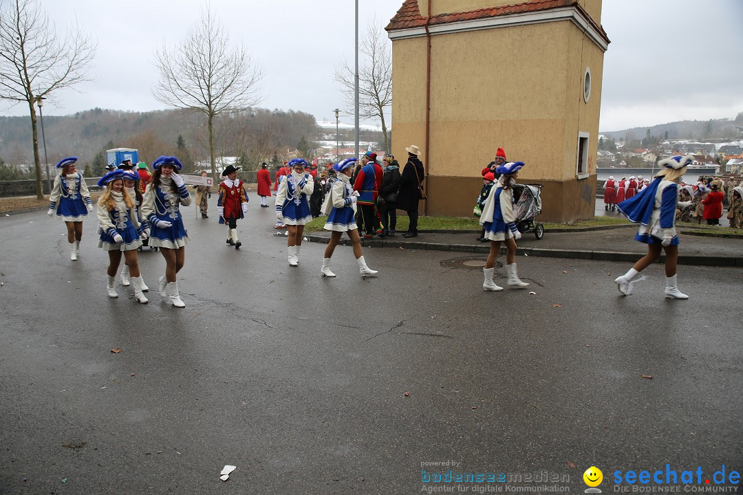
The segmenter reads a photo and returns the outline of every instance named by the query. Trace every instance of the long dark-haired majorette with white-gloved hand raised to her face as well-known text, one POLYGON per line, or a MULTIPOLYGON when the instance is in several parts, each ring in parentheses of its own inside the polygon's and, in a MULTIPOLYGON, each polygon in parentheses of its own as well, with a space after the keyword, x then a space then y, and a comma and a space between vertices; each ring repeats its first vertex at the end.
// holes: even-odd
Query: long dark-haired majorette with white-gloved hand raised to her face
POLYGON ((186 307, 178 293, 176 274, 186 261, 184 246, 189 241, 181 217, 180 205, 189 206, 191 197, 183 178, 176 172, 183 168, 176 157, 159 157, 152 163, 155 172, 147 185, 142 203, 142 216, 151 226, 149 245, 160 248, 165 258, 165 275, 160 277, 160 295, 169 297, 175 307, 186 307))

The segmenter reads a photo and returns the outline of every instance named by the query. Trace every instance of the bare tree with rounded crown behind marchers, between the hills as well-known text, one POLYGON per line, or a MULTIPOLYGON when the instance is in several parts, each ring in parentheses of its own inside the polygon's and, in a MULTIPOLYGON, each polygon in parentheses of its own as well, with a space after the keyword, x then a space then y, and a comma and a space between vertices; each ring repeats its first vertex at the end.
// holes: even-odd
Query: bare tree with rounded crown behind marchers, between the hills
POLYGON ((210 7, 171 50, 155 50, 160 81, 152 90, 155 99, 177 108, 198 111, 207 117, 212 175, 217 177, 214 119, 257 105, 261 101, 261 68, 247 48, 231 47, 230 35, 210 7))

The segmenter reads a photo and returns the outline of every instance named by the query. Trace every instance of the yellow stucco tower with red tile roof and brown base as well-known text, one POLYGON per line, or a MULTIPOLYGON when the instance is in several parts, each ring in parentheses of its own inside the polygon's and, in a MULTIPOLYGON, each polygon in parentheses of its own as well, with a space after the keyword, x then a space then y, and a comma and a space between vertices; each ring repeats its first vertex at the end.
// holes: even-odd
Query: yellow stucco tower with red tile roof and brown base
POLYGON ((540 220, 593 217, 600 22, 601 0, 404 1, 386 27, 392 144, 421 148, 427 214, 472 214, 502 147, 519 182, 544 185, 540 220))

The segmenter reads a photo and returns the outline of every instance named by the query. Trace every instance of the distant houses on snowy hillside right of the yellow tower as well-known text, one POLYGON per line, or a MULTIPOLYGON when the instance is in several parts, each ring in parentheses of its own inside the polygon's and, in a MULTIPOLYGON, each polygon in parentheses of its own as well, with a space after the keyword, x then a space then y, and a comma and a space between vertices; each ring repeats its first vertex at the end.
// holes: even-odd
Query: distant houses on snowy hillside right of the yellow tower
POLYGON ((623 168, 634 164, 639 167, 679 154, 692 154, 694 165, 721 165, 721 171, 729 174, 743 173, 743 146, 716 145, 709 142, 663 141, 656 149, 623 149, 623 143, 617 142, 616 152, 597 151, 597 165, 623 168))

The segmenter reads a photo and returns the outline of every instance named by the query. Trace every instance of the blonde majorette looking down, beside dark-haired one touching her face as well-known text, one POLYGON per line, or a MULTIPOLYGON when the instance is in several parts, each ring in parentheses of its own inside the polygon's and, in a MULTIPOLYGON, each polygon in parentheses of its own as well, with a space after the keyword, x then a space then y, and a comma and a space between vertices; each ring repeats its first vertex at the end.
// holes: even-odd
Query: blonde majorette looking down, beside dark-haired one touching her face
POLYGON ((119 295, 114 288, 114 279, 121 263, 121 254, 124 254, 124 263, 129 267, 134 286, 134 298, 140 303, 146 303, 147 298, 142 293, 142 278, 137 262, 137 248, 142 245, 140 237, 144 237, 137 213, 134 210, 134 199, 124 190, 123 170, 108 172, 98 181, 99 187, 105 187, 103 195, 98 198, 98 232, 100 240, 98 247, 108 252, 108 283, 106 291, 109 298, 119 295))

